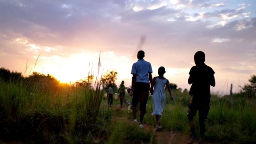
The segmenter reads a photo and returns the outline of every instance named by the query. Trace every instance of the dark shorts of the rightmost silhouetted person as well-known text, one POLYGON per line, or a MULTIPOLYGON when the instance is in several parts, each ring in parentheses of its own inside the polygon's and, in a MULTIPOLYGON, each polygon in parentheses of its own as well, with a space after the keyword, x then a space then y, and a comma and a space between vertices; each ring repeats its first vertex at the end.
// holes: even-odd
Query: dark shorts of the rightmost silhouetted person
POLYGON ((199 118, 208 118, 208 113, 210 110, 210 97, 204 98, 204 100, 198 100, 191 97, 190 103, 188 103, 187 117, 192 119, 196 116, 198 110, 199 118))

